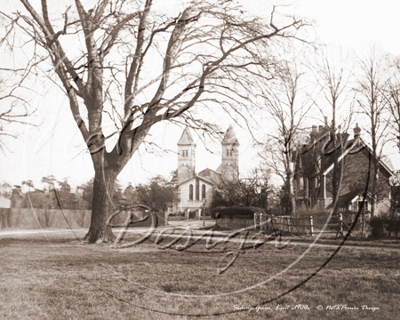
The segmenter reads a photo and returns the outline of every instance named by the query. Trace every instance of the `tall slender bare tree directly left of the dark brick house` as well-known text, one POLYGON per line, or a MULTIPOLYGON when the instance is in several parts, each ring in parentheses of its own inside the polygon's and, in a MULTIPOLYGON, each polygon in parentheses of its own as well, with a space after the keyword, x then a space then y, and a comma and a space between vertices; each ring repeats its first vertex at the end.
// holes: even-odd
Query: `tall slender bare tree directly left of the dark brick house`
POLYGON ((300 65, 285 61, 271 85, 261 89, 265 110, 275 121, 276 130, 268 134, 260 156, 282 178, 284 193, 290 202, 290 214, 296 213, 295 165, 299 145, 305 143, 302 125, 312 106, 302 80, 300 65), (273 85, 272 85, 273 83, 273 85))

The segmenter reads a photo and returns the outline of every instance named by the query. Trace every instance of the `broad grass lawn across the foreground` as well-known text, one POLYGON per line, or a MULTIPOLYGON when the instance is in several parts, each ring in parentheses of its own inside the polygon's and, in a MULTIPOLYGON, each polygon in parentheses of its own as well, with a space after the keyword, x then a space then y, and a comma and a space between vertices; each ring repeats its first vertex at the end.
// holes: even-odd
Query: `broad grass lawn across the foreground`
POLYGON ((224 252, 221 245, 207 251, 204 241, 186 251, 161 250, 151 241, 115 250, 82 244, 72 233, 47 237, 0 234, 0 319, 400 317, 400 251, 395 247, 343 247, 291 291, 334 247, 279 250, 265 244, 246 250, 218 274, 218 265, 232 259, 222 259, 224 254, 237 251, 238 242, 224 252))

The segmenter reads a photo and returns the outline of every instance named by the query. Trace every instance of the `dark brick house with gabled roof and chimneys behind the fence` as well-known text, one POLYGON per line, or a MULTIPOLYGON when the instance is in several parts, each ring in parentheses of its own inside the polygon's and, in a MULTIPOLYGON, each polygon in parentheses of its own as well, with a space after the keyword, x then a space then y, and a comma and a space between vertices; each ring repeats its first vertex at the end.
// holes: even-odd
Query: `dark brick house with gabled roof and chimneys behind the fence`
MULTIPOLYGON (((335 149, 331 144, 327 144, 328 132, 327 125, 319 126, 318 129, 317 126, 313 126, 309 142, 302 145, 295 156, 293 189, 296 203, 306 207, 319 206, 324 209, 332 207, 334 200, 332 179, 336 156, 339 168, 337 177, 341 180, 337 208, 339 211, 358 211, 363 200, 372 149, 361 139, 361 129, 358 124, 354 128, 353 137, 347 133, 337 134, 338 145, 341 141, 342 147, 335 149)), ((377 161, 377 166, 375 212, 379 213, 389 210, 389 179, 394 173, 380 159, 377 161)), ((368 211, 371 210, 371 197, 371 193, 368 192, 367 203, 364 204, 364 208, 368 211)))

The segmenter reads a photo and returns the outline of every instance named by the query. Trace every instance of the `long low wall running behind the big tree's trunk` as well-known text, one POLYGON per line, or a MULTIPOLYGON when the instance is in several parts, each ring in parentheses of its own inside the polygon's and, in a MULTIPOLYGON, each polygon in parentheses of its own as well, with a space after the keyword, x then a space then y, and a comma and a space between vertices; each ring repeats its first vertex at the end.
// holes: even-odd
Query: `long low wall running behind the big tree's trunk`
MULTIPOLYGON (((39 228, 89 228, 91 210, 25 209, 11 208, 0 210, 0 228, 39 229, 39 228), (65 216, 65 217, 64 217, 65 216)), ((156 213, 157 225, 165 225, 164 213, 156 213)), ((142 213, 138 212, 137 218, 142 213)), ((112 223, 120 224, 126 220, 126 213, 116 216, 112 223)), ((149 227, 151 218, 132 224, 131 227, 149 227)))

